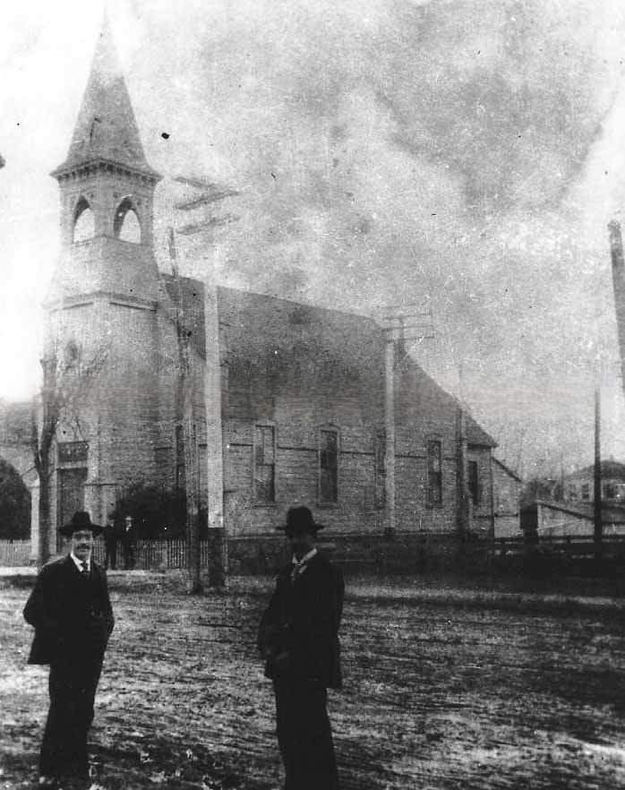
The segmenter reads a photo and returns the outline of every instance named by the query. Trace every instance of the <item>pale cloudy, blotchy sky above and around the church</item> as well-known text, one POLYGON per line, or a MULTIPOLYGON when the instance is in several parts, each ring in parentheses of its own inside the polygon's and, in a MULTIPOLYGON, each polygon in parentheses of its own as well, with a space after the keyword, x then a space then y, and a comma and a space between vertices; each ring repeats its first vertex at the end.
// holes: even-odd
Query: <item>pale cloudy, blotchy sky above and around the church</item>
MULTIPOLYGON (((185 273, 372 315, 428 309, 434 337, 414 355, 526 475, 592 458, 602 367, 605 453, 625 460, 606 230, 625 206, 618 0, 109 0, 108 14, 165 176, 163 268, 174 177, 233 187, 218 210, 235 222, 179 236, 185 273)), ((0 398, 16 399, 39 382, 48 173, 102 7, 3 15, 0 398)))

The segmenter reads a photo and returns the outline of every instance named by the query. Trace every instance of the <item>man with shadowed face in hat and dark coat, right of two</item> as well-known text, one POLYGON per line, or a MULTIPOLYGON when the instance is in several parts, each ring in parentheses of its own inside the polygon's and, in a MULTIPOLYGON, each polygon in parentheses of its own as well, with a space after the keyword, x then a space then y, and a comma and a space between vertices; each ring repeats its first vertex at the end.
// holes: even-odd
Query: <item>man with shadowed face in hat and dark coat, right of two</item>
POLYGON ((312 512, 291 508, 284 528, 293 557, 278 574, 258 645, 276 697, 285 790, 338 790, 327 689, 341 687, 338 626, 343 575, 316 548, 312 512))

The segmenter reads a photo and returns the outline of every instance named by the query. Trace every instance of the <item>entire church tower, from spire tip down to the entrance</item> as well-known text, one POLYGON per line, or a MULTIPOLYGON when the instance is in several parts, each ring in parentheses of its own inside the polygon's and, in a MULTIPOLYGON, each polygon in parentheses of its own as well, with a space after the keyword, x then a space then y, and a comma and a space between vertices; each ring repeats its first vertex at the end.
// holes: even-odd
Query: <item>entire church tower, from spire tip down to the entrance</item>
POLYGON ((44 359, 73 368, 80 397, 56 430, 51 520, 104 523, 127 485, 154 474, 162 287, 150 167, 105 18, 64 162, 60 253, 44 359), (95 369, 95 368, 98 369, 95 369))

